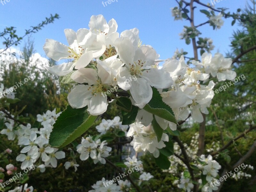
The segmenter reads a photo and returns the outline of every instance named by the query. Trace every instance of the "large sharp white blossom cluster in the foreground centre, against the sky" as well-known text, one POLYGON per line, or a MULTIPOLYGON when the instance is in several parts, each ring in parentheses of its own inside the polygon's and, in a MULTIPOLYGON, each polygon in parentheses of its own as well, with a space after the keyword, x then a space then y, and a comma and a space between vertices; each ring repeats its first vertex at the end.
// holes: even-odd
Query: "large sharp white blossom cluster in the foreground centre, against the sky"
POLYGON ((169 74, 156 68, 159 55, 151 46, 141 45, 137 28, 125 30, 119 36, 116 21, 107 23, 102 15, 92 16, 89 28, 77 32, 66 29, 68 46, 52 39, 44 44, 46 55, 53 60, 73 59, 48 68, 57 76, 72 73, 71 78, 78 83, 68 95, 73 108, 88 106, 92 115, 104 113, 108 107, 104 93, 113 92, 116 85, 129 90, 134 105, 143 108, 152 98, 151 86, 171 86, 169 74), (127 81, 132 76, 136 80, 127 81))

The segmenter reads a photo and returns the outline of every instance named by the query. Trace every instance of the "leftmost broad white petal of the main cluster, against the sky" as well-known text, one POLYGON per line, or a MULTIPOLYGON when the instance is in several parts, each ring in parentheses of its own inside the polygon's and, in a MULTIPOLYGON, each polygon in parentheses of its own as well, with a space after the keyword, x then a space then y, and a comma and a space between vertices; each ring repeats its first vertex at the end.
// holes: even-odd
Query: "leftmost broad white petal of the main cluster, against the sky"
POLYGON ((46 55, 56 61, 60 59, 68 59, 68 50, 69 48, 67 45, 64 45, 53 39, 46 39, 44 44, 44 52, 46 55))

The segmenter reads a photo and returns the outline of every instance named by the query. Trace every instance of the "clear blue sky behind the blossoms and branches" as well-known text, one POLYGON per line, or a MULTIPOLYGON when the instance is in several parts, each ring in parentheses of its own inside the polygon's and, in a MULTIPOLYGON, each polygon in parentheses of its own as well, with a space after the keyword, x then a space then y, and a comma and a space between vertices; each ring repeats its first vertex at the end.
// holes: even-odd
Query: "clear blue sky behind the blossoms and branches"
MULTIPOLYGON (((183 26, 189 26, 188 21, 174 21, 170 8, 177 6, 175 0, 118 0, 105 7, 102 0, 9 0, 6 4, 0 3, 0 30, 6 26, 17 27, 19 35, 24 34, 25 29, 37 25, 50 14, 58 13, 60 19, 54 24, 49 24, 43 30, 33 34, 36 52, 45 56, 43 45, 46 38, 55 39, 67 44, 64 29, 89 28, 89 20, 92 15, 102 14, 106 20, 114 18, 118 24, 118 32, 126 29, 138 28, 143 44, 153 46, 161 59, 172 57, 176 48, 183 48, 192 54, 192 45, 186 45, 180 39, 179 33, 183 26)), ((210 0, 201 0, 207 4, 210 0)), ((196 3, 195 3, 196 4, 196 3)), ((246 0, 221 0, 216 7, 229 8, 231 12, 237 8, 244 8, 246 0)), ((206 17, 196 9, 195 24, 206 21, 206 17)), ((202 8, 200 8, 202 9, 202 8)), ((232 19, 225 20, 224 26, 219 30, 213 30, 209 25, 198 28, 203 36, 211 37, 215 50, 221 53, 229 51, 230 37, 237 25, 231 27, 232 19)), ((1 47, 0 47, 1 48, 1 47)), ((191 55, 190 54, 190 55, 191 55)), ((191 55, 192 56, 192 55, 191 55)))

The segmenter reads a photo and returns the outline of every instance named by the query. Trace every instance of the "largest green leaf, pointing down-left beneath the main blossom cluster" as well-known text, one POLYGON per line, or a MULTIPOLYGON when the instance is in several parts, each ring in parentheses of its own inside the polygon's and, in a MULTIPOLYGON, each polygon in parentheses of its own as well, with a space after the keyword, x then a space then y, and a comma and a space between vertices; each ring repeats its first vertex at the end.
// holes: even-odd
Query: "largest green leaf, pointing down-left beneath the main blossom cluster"
POLYGON ((90 115, 87 108, 76 109, 67 106, 53 124, 49 139, 52 147, 65 147, 92 126, 97 116, 90 115))

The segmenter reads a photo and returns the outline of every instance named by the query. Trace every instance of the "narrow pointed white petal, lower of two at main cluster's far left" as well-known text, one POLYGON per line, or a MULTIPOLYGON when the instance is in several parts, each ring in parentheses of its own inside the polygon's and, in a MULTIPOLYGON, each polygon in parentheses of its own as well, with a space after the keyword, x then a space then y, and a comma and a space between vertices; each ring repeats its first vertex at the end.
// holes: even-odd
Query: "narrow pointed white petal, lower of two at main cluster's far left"
POLYGON ((62 63, 60 65, 54 65, 52 67, 47 67, 48 71, 56 76, 68 75, 74 68, 76 63, 62 63))

